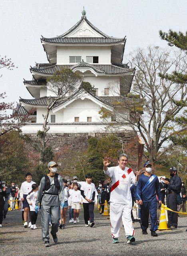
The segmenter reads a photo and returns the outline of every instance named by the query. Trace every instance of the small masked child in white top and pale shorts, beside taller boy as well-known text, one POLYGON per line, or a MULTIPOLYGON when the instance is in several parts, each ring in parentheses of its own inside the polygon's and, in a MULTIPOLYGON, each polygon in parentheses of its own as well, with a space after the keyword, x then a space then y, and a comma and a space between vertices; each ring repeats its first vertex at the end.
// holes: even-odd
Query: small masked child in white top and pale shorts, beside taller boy
MULTIPOLYGON (((79 212, 80 212, 80 204, 82 201, 82 196, 80 190, 78 190, 78 184, 74 183, 74 190, 70 195, 70 205, 74 211, 74 224, 79 223, 79 212)), ((69 206, 70 207, 70 206, 69 206)))

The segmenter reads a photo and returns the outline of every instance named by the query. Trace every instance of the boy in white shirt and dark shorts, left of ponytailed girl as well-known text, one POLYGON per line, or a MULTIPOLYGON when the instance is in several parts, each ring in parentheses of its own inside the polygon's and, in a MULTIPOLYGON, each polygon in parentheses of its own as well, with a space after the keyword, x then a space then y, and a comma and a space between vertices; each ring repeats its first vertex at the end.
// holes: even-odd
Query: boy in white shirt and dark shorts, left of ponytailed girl
MULTIPOLYGON (((32 174, 30 172, 26 173, 25 175, 26 181, 22 183, 20 188, 20 198, 23 203, 23 209, 24 209, 24 228, 28 227, 27 219, 28 219, 28 213, 30 212, 30 207, 27 202, 26 197, 28 196, 28 193, 32 190, 32 184, 35 184, 36 182, 32 181, 32 174)), ((31 226, 31 222, 29 222, 29 227, 31 226)))

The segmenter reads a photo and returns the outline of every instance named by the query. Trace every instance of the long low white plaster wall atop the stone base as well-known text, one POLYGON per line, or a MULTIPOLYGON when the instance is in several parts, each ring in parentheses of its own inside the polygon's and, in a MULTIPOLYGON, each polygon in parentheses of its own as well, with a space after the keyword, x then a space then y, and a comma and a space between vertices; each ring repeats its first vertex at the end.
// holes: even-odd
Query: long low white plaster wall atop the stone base
MULTIPOLYGON (((118 128, 115 126, 115 128, 109 127, 109 130, 107 129, 107 124, 102 125, 50 125, 50 130, 48 133, 92 133, 92 132, 105 132, 105 133, 111 133, 111 132, 128 132, 133 131, 131 126, 123 125, 119 126, 118 128)), ((32 133, 36 134, 38 130, 42 130, 42 125, 25 125, 21 128, 22 133, 32 133)))

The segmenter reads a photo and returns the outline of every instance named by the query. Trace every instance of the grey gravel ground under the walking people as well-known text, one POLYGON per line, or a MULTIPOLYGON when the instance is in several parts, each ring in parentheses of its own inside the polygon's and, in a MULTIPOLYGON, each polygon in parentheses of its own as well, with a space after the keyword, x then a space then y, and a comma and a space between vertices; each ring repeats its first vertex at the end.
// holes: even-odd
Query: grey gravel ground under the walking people
POLYGON ((119 244, 111 243, 110 222, 95 209, 95 226, 85 227, 82 212, 79 224, 67 224, 59 230, 58 244, 51 239, 51 247, 45 248, 41 239, 40 213, 37 230, 24 228, 20 211, 8 212, 0 228, 0 255, 2 256, 185 256, 187 255, 187 217, 179 218, 177 230, 158 232, 158 237, 142 235, 139 223, 134 224, 136 242, 126 244, 121 226, 119 244), (101 218, 100 218, 101 217, 101 218))

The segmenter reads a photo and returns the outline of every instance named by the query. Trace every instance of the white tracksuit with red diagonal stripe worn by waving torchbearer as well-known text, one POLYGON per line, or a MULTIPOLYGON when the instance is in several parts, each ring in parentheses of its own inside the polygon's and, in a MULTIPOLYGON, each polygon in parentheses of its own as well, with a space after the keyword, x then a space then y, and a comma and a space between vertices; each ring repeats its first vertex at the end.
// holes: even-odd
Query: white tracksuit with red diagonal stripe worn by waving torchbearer
POLYGON ((136 185, 135 175, 131 168, 125 167, 122 170, 119 166, 109 167, 104 171, 112 179, 110 194, 110 222, 111 235, 119 237, 121 219, 125 229, 125 236, 133 236, 134 228, 131 219, 132 198, 130 186, 136 185))

